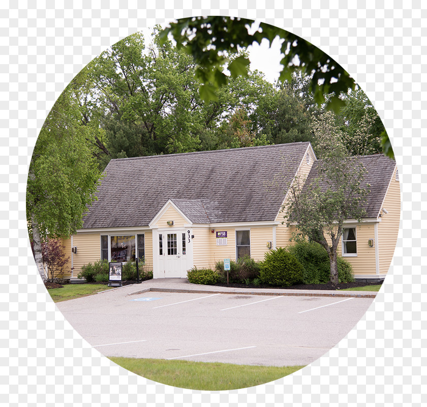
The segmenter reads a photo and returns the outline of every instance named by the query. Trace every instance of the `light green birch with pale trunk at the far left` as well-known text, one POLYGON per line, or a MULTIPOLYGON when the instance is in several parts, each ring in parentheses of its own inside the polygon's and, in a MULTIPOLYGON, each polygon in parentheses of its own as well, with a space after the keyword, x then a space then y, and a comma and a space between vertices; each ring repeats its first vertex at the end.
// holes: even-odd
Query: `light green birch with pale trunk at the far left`
POLYGON ((90 127, 81 123, 73 81, 43 124, 29 164, 26 215, 40 276, 45 281, 42 242, 68 237, 82 226, 100 178, 89 147, 90 127))

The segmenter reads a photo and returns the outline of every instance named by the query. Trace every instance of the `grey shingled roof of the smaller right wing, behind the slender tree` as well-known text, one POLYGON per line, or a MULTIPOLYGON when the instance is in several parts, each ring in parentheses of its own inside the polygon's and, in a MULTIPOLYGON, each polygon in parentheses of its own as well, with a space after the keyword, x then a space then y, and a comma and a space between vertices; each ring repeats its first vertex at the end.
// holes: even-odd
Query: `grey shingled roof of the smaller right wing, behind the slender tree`
MULTIPOLYGON (((364 206, 366 217, 377 218, 396 163, 382 154, 358 156, 354 157, 354 159, 360 160, 368 171, 364 176, 363 185, 371 185, 367 202, 364 206)), ((307 187, 317 177, 318 166, 321 165, 321 162, 321 160, 318 160, 313 164, 307 179, 307 187)))

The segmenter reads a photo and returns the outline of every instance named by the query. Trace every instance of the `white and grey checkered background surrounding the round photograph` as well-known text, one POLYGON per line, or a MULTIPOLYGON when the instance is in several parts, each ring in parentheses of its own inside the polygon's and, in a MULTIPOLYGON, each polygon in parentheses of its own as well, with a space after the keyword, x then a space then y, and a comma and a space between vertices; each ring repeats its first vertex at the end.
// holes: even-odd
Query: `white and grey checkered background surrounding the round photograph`
MULTIPOLYGON (((0 397, 22 405, 390 405, 426 403, 427 11, 421 1, 3 1, 0 3, 2 285, 0 397), (201 8, 210 6, 210 9, 201 8), (37 7, 37 8, 35 8, 37 7), (149 7, 149 8, 147 8, 149 7), (184 8, 189 7, 189 8, 184 8), (230 392, 173 388, 111 363, 65 321, 39 280, 25 224, 29 160, 70 80, 107 46, 191 15, 259 19, 319 46, 353 75, 383 119, 402 188, 390 272, 356 327, 324 357, 273 383, 230 392), (425 184, 425 182, 424 182, 425 184)), ((7 400, 7 401, 5 401, 7 400)))

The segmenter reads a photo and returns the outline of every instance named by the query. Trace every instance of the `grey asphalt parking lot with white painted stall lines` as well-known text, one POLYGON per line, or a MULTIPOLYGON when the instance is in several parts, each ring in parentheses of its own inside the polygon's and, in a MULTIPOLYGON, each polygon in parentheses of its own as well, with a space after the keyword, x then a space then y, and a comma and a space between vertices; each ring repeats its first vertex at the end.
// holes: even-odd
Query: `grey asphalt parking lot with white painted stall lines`
POLYGON ((125 288, 56 305, 105 356, 291 366, 325 354, 373 301, 125 288))

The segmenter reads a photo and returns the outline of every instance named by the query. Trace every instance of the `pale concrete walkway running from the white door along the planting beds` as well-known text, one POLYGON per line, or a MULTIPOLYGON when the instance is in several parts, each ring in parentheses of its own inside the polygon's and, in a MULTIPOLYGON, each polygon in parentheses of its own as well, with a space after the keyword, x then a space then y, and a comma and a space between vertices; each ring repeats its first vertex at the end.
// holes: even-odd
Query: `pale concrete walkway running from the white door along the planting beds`
MULTIPOLYGON (((376 292, 369 291, 328 291, 328 290, 303 290, 280 288, 235 288, 189 283, 187 278, 157 278, 142 281, 140 284, 124 285, 114 288, 125 295, 141 294, 146 292, 163 293, 205 293, 205 294, 249 294, 249 295, 277 295, 277 296, 302 296, 302 297, 355 297, 375 298, 376 292)), ((111 291, 109 289, 108 291, 111 291)))

